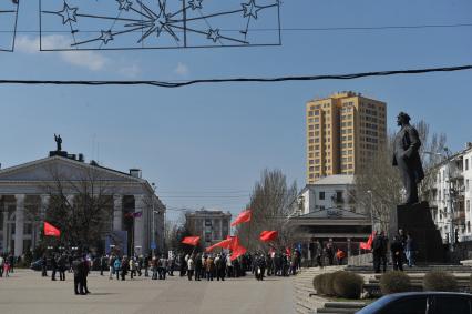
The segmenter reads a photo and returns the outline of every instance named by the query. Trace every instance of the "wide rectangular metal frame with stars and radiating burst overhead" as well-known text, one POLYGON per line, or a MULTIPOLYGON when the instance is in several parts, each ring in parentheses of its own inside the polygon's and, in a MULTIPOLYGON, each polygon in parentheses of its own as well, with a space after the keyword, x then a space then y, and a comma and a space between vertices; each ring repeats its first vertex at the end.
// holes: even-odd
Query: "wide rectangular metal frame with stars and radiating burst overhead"
POLYGON ((279 0, 40 0, 41 51, 280 44, 279 0))

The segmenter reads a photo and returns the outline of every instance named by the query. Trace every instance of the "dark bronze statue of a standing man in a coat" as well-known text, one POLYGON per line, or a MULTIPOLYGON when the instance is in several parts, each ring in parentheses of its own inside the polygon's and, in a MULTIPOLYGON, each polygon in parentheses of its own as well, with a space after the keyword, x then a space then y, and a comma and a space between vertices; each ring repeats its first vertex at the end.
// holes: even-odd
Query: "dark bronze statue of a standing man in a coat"
POLYGON ((418 184, 424 179, 423 166, 419 149, 421 141, 417 129, 410 125, 410 115, 400 112, 397 123, 401 130, 397 133, 393 143, 393 165, 398 166, 407 191, 406 205, 415 204, 418 200, 418 184))

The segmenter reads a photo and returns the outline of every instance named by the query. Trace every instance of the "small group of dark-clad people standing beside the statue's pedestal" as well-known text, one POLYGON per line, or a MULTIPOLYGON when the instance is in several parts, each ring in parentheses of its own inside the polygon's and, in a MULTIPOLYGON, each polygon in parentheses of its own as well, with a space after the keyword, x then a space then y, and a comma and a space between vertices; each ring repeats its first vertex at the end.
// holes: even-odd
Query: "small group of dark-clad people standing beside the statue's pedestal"
MULTIPOLYGON (((372 240, 373 271, 386 272, 389 253, 389 239, 384 232, 376 232, 372 240)), ((403 264, 414 266, 417 245, 410 233, 399 230, 390 243, 391 262, 394 271, 403 271, 403 264)))

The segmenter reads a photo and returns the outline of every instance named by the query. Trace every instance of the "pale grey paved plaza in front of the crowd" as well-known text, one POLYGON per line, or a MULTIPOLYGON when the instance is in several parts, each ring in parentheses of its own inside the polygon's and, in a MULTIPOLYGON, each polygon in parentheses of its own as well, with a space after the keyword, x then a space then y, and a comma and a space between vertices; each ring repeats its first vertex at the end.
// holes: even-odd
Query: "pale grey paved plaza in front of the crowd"
POLYGON ((117 282, 93 272, 90 295, 73 294, 72 274, 51 281, 41 273, 17 270, 0 278, 0 313, 295 313, 291 278, 253 276, 225 282, 188 282, 186 277, 117 282))

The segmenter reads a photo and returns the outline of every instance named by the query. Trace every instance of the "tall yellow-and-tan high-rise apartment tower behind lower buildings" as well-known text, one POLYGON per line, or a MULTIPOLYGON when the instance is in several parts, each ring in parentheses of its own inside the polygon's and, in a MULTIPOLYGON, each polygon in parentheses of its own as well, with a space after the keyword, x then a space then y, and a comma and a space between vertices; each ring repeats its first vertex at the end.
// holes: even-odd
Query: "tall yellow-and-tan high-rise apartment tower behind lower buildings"
POLYGON ((307 183, 356 174, 387 142, 387 104, 338 92, 307 103, 307 183))

